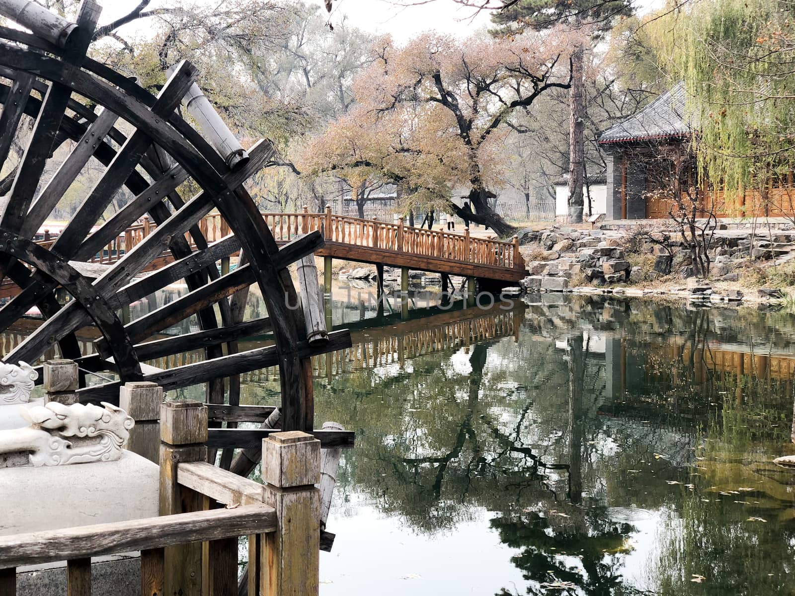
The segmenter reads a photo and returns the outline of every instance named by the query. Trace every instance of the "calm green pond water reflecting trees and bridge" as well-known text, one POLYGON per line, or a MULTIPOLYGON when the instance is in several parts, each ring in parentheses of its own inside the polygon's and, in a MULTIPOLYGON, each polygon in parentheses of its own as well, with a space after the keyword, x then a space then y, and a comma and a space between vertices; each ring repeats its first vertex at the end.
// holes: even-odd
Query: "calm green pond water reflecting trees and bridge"
POLYGON ((795 594, 795 317, 527 302, 335 301, 353 347, 316 358, 316 420, 356 447, 321 594, 795 594))

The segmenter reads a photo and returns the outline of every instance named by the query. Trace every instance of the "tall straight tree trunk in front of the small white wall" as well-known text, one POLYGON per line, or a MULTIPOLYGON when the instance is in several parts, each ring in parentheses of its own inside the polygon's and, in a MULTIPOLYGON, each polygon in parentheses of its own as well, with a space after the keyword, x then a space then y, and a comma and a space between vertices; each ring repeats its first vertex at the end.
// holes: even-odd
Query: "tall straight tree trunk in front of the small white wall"
POLYGON ((583 223, 583 163, 584 163, 584 47, 578 45, 572 54, 572 87, 568 91, 571 118, 569 120, 568 163, 568 221, 583 223))

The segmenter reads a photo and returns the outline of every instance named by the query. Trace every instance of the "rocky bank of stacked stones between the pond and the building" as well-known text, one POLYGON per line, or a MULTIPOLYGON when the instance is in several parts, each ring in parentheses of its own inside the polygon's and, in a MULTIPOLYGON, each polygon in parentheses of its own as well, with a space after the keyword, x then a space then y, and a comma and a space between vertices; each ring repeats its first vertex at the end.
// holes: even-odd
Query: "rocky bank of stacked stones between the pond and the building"
POLYGON ((795 274, 795 230, 781 227, 762 234, 754 226, 718 224, 705 253, 708 279, 696 277, 692 246, 665 222, 618 230, 554 225, 522 230, 519 238, 529 272, 517 288, 522 292, 764 305, 786 298, 784 288, 764 283, 766 273, 780 267, 795 274))

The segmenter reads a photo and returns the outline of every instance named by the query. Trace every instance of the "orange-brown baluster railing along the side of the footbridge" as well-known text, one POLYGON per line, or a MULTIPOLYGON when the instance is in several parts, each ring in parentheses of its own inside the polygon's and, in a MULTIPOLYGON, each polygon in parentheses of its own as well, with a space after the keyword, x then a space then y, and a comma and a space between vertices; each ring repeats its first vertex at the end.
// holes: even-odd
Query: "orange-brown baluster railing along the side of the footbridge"
MULTIPOLYGON (((391 250, 395 253, 460 261, 473 265, 525 269, 516 236, 511 242, 472 238, 468 228, 465 229, 464 234, 451 234, 440 230, 405 226, 403 218, 400 218, 398 223, 389 223, 377 219, 335 215, 332 214, 331 207, 327 207, 325 213, 309 213, 308 207, 304 207, 301 213, 263 213, 262 217, 277 242, 289 242, 297 236, 317 230, 328 242, 391 250)), ((111 264, 118 261, 149 236, 156 227, 157 225, 145 216, 142 223, 130 226, 123 234, 108 242, 103 250, 91 257, 91 262, 111 264)), ((207 242, 216 242, 231 233, 227 222, 217 213, 206 215, 201 219, 199 229, 207 242)), ((192 242, 190 234, 185 234, 185 237, 192 242)), ((39 244, 49 248, 54 239, 55 237, 49 238, 49 233, 45 231, 45 239, 39 244)))

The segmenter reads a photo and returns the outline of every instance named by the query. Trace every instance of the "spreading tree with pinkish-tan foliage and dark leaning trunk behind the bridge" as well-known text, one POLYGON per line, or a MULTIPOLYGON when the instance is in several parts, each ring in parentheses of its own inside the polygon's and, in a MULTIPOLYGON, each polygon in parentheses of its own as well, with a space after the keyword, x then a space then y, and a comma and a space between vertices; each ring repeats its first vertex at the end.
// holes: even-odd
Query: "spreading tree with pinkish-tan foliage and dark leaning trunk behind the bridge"
POLYGON ((489 204, 499 177, 494 156, 511 118, 531 110, 545 91, 568 88, 570 48, 582 35, 425 34, 403 48, 385 38, 354 84, 357 115, 333 123, 309 153, 320 169, 406 176, 414 188, 436 189, 436 199, 446 194, 446 211, 510 234, 514 227, 489 204), (458 205, 450 189, 463 184, 468 191, 458 205))

